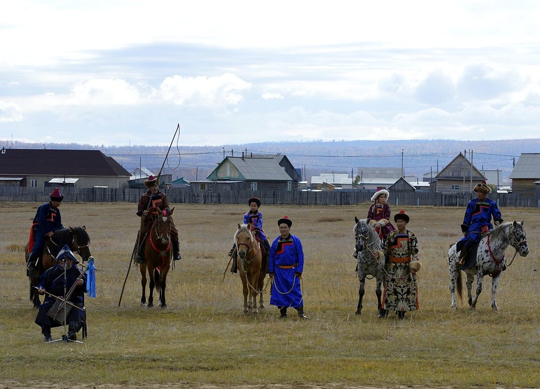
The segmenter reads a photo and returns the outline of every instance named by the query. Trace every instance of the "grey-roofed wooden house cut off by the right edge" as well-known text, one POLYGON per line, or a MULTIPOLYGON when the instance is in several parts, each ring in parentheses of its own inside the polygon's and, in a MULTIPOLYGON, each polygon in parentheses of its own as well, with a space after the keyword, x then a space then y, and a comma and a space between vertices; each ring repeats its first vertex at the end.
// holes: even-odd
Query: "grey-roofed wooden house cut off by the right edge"
POLYGON ((523 153, 512 169, 512 192, 522 198, 535 198, 535 182, 540 180, 540 153, 523 153))

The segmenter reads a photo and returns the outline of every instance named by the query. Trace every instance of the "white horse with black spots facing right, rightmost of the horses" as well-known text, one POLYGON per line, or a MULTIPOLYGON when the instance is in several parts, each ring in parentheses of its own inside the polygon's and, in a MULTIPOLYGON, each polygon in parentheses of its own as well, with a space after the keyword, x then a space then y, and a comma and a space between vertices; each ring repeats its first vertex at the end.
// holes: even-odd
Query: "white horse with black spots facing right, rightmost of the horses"
MULTIPOLYGON (((527 256, 529 254, 529 246, 527 245, 527 237, 523 230, 523 223, 514 223, 508 221, 493 230, 486 233, 478 244, 475 265, 470 269, 463 270, 467 274, 467 294, 469 295, 470 309, 476 309, 476 301, 482 292, 482 282, 485 275, 492 277, 491 286, 491 309, 498 312, 497 307, 497 283, 501 278, 502 271, 506 268, 506 259, 504 251, 510 245, 516 249, 516 254, 527 256), (476 296, 473 298, 471 289, 473 288, 474 276, 476 275, 476 296)), ((514 258, 516 256, 514 254, 514 258)), ((512 261, 514 260, 512 258, 512 261)), ((448 264, 450 269, 450 294, 451 307, 456 308, 456 288, 460 300, 463 301, 461 270, 457 264, 459 261, 456 252, 456 244, 450 246, 448 250, 448 264)), ((508 264, 511 265, 512 261, 508 264)))

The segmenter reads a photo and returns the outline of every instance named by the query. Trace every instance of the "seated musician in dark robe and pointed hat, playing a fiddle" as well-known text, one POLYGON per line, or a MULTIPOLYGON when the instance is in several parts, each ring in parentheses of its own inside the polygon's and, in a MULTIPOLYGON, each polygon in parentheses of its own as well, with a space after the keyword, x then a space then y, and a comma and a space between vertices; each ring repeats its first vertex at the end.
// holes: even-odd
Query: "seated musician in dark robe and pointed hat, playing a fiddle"
MULTIPOLYGON (((40 295, 46 294, 45 301, 39 306, 39 312, 36 317, 36 324, 41 327, 41 332, 44 336, 45 342, 51 342, 51 328, 59 327, 64 323, 63 309, 59 312, 57 319, 53 319, 48 315, 55 302, 59 301, 58 298, 65 298, 68 296, 68 302, 76 307, 71 307, 70 304, 66 304, 68 311, 71 307, 71 311, 66 317, 66 324, 68 324, 68 338, 71 341, 77 340, 77 332, 83 327, 84 320, 84 294, 86 292, 86 274, 81 274, 81 270, 73 265, 77 262, 75 255, 70 251, 67 246, 60 251, 56 257, 58 262, 56 266, 53 266, 46 270, 45 273, 39 276, 38 293, 40 295), (64 266, 65 266, 65 294, 64 294, 64 266), (71 294, 69 294, 71 292, 71 294), (56 296, 56 297, 53 297, 56 296)), ((54 317, 54 316, 53 316, 54 317)))

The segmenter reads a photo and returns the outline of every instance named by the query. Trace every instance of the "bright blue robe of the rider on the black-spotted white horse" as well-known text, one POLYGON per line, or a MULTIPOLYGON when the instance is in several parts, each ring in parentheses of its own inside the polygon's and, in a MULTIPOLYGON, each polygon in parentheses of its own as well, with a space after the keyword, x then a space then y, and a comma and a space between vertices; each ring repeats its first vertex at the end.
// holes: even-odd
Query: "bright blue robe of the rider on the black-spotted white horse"
POLYGON ((463 218, 463 224, 469 227, 467 236, 460 241, 473 240, 479 242, 482 237, 482 232, 492 230, 491 217, 494 221, 502 223, 501 211, 497 207, 497 203, 489 198, 485 198, 483 201, 475 198, 470 200, 465 210, 465 217, 463 218))

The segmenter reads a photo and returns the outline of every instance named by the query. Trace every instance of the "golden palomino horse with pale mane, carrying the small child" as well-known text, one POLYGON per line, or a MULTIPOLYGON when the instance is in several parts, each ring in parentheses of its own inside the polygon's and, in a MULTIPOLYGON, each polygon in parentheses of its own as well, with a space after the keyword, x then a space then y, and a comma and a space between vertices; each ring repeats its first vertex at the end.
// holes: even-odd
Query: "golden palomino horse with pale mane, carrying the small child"
POLYGON ((234 241, 238 251, 238 273, 244 292, 244 310, 242 312, 247 314, 248 309, 253 309, 253 315, 258 315, 257 294, 260 294, 259 308, 265 308, 265 303, 262 300, 262 288, 265 282, 266 263, 262 258, 260 244, 251 233, 251 224, 238 224, 234 241))

